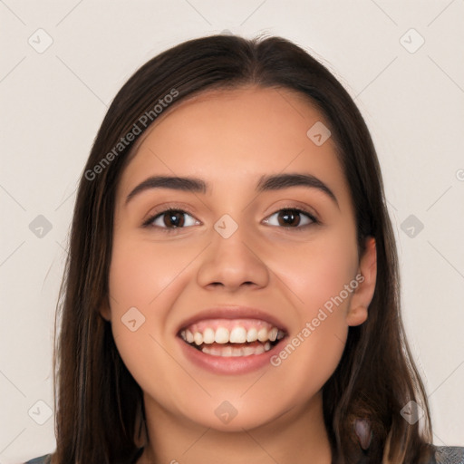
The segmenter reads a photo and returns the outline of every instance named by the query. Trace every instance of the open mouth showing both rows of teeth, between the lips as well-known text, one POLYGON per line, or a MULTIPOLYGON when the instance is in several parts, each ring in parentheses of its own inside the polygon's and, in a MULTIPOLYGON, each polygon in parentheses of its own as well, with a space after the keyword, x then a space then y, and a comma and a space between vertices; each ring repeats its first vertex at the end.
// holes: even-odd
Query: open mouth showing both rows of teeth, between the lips
POLYGON ((192 324, 179 337, 201 353, 221 357, 253 356, 266 353, 286 333, 262 320, 208 320, 192 324))

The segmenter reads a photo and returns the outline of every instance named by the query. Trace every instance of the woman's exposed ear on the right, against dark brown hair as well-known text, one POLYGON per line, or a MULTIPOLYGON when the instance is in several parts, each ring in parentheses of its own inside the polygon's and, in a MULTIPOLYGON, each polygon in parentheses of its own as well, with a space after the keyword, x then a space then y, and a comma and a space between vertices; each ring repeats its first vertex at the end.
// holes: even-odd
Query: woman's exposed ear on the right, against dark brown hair
POLYGON ((346 314, 346 324, 360 325, 366 321, 368 316, 369 304, 372 302, 377 280, 377 250, 375 238, 366 238, 365 251, 361 256, 356 275, 358 286, 353 292, 348 313, 346 314))

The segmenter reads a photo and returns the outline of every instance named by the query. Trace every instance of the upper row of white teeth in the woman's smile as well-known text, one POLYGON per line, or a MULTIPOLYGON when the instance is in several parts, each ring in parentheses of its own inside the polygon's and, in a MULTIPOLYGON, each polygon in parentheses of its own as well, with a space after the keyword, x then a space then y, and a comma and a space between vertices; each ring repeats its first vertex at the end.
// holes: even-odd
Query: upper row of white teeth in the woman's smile
POLYGON ((216 331, 210 327, 206 328, 202 333, 191 333, 189 329, 180 332, 180 336, 188 343, 246 343, 246 342, 275 342, 284 337, 284 333, 276 327, 267 330, 262 327, 257 330, 255 327, 245 329, 244 327, 234 327, 230 332, 226 327, 218 327, 216 331))

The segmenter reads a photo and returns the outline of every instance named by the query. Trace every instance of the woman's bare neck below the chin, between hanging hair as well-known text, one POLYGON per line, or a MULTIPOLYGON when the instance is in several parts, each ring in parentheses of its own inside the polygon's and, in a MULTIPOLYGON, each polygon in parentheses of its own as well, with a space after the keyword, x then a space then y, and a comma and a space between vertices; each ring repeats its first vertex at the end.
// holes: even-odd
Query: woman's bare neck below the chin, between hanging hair
POLYGON ((322 393, 251 430, 225 432, 174 416, 145 395, 149 440, 137 464, 331 464, 322 393))

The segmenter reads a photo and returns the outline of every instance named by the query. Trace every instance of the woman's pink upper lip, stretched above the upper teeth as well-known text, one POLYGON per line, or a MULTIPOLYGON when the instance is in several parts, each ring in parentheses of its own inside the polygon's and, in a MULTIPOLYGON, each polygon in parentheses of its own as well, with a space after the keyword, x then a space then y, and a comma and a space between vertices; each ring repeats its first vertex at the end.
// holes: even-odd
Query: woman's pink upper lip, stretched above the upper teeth
POLYGON ((190 316, 179 325, 178 334, 191 324, 198 323, 204 319, 262 319, 273 324, 277 329, 287 333, 285 325, 275 315, 250 306, 218 306, 204 309, 190 316))

